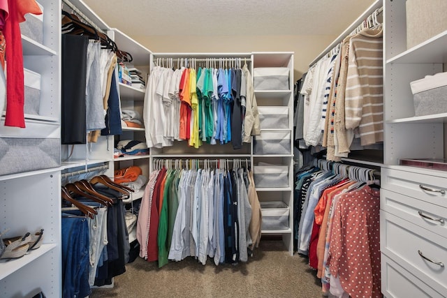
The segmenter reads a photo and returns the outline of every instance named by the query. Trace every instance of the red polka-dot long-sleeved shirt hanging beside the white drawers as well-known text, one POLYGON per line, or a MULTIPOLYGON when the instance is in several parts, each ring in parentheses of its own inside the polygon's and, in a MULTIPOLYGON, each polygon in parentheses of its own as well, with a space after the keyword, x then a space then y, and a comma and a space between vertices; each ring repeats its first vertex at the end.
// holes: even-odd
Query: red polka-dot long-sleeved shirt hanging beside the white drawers
POLYGON ((382 297, 380 191, 365 186, 342 195, 332 223, 330 274, 350 297, 382 297))

